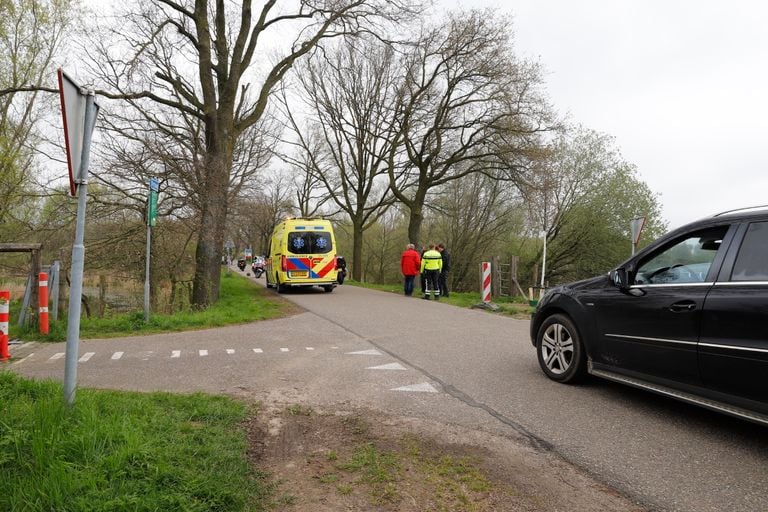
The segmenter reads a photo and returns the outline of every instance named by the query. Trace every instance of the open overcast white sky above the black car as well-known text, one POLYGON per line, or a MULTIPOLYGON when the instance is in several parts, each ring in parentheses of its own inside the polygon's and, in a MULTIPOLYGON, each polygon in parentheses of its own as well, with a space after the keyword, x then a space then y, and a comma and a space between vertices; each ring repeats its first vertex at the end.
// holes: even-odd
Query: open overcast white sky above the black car
POLYGON ((670 228, 768 204, 768 3, 439 3, 511 13, 555 107, 616 138, 670 228))

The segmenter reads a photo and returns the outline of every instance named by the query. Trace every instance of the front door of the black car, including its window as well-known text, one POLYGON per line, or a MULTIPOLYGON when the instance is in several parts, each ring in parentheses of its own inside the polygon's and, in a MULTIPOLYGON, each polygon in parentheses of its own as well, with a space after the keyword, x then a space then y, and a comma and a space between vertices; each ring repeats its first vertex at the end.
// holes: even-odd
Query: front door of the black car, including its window
POLYGON ((628 289, 608 287, 596 311, 599 364, 645 378, 699 384, 702 306, 722 263, 729 226, 680 235, 641 255, 628 289))

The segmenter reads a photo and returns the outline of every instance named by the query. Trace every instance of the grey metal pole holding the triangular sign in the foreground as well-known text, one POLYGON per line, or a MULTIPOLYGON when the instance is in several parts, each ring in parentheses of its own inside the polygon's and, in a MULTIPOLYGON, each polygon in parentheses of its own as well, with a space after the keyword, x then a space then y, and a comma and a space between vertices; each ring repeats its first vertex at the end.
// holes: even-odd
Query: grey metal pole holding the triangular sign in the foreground
POLYGON ((85 207, 88 203, 88 164, 91 156, 91 132, 96 122, 94 110, 94 94, 90 92, 86 97, 85 103, 83 154, 80 160, 79 184, 77 187, 77 224, 75 226, 75 242, 72 245, 72 285, 69 289, 69 313, 67 316, 64 401, 70 406, 75 403, 75 391, 77 388, 80 300, 83 295, 83 267, 85 266, 85 207))

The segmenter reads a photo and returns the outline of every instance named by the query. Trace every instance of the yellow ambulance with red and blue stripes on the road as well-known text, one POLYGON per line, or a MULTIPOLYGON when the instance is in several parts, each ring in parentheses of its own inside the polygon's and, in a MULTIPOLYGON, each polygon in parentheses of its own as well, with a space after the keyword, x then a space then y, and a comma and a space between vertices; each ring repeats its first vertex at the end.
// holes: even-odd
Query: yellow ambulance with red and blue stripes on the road
POLYGON ((272 232, 266 262, 267 287, 336 287, 336 239, 325 219, 287 219, 272 232))

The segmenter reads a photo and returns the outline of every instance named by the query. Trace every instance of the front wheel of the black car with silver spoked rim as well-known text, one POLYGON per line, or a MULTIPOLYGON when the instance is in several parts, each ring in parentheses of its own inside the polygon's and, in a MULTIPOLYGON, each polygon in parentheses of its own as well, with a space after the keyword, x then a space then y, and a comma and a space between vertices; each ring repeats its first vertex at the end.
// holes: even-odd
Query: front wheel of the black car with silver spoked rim
POLYGON ((536 335, 539 366, 550 379, 574 384, 587 374, 587 353, 581 335, 568 316, 548 317, 536 335))

